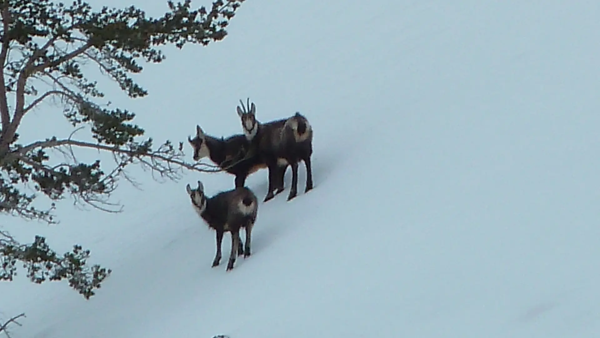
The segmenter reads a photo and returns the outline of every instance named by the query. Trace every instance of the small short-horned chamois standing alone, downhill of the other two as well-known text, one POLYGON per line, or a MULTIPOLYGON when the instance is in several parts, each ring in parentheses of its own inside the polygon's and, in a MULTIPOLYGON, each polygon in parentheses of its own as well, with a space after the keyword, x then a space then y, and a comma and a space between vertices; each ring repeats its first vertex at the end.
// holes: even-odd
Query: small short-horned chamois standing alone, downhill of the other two
POLYGON ((212 267, 221 262, 221 242, 226 232, 231 233, 231 253, 226 271, 233 269, 236 256, 244 253, 244 258, 249 257, 252 228, 258 214, 258 200, 254 192, 242 187, 206 197, 204 186, 200 181, 196 189, 192 189, 188 183, 185 190, 190 195, 194 210, 208 224, 208 227, 217 233, 217 254, 212 261, 212 267), (246 232, 245 245, 242 245, 242 240, 239 238, 241 228, 246 232))

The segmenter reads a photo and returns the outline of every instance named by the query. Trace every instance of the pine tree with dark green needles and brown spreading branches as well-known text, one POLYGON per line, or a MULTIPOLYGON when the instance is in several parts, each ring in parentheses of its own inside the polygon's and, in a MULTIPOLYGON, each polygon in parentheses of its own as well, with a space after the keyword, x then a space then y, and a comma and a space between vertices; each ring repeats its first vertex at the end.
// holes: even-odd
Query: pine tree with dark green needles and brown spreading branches
MULTIPOLYGON (((210 10, 193 10, 190 0, 169 1, 169 11, 153 18, 133 6, 94 10, 81 0, 0 0, 0 213, 57 223, 52 214, 55 201, 65 197, 118 211, 101 205, 114 205, 108 202, 110 194, 119 177, 131 180, 124 171, 130 164, 167 179, 178 179, 183 168, 218 171, 212 165, 186 162, 181 143, 175 147, 167 140, 155 147, 152 138, 139 140, 145 131, 132 122, 136 115, 108 108, 110 102, 86 65, 98 67, 129 97, 146 96, 148 91, 131 75, 142 72, 143 63, 163 61, 160 46, 181 49, 187 43, 206 46, 222 40, 242 2, 217 0, 210 10), (91 139, 74 140, 73 132, 70 137, 18 143, 23 116, 48 99, 58 99, 74 132, 87 128, 91 139), (78 148, 110 152, 115 163, 107 168, 100 161, 79 162, 74 153, 78 148), (51 149, 63 156, 50 156, 51 149), (38 194, 47 197, 46 208, 33 206, 38 194)), ((57 256, 43 237, 29 245, 1 244, 0 279, 11 280, 20 261, 32 281, 67 278, 88 298, 110 273, 86 266, 89 252, 77 245, 72 253, 57 256)))

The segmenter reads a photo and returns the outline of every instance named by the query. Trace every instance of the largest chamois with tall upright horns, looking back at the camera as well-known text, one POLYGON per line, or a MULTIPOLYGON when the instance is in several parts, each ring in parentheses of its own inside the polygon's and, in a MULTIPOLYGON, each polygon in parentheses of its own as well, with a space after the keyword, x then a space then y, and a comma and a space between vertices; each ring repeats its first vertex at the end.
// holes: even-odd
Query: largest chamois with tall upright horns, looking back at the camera
MULTIPOLYGON (((283 191, 284 175, 287 165, 292 167, 292 188, 287 200, 298 195, 298 162, 304 161, 307 171, 304 192, 313 189, 311 156, 313 155, 313 128, 304 115, 296 112, 288 118, 260 123, 256 120, 256 105, 251 104, 249 111, 239 100, 238 115, 246 138, 256 146, 261 162, 269 168, 269 192, 265 202, 283 191), (274 190, 277 189, 277 191, 274 190)), ((250 99, 248 98, 248 105, 250 99)))

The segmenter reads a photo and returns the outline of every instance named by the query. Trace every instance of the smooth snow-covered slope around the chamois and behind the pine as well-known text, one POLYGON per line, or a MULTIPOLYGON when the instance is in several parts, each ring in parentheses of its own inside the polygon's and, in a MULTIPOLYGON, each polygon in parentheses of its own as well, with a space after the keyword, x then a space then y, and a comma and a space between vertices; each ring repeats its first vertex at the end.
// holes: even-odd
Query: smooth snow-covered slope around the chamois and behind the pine
MULTIPOLYGON (((157 140, 241 132, 247 96, 262 121, 301 111, 314 190, 302 194, 301 166, 286 202, 288 173, 231 272, 210 268, 214 233, 185 194, 197 179, 230 189, 227 174, 123 185, 118 215, 67 203, 50 229, 10 220, 114 271, 90 301, 64 283, 0 284, 0 311, 28 314, 13 337, 598 336, 599 14, 581 1, 245 2, 226 40, 168 51, 140 78, 148 98, 114 101, 157 140)), ((247 182, 262 200, 266 171, 247 182)))

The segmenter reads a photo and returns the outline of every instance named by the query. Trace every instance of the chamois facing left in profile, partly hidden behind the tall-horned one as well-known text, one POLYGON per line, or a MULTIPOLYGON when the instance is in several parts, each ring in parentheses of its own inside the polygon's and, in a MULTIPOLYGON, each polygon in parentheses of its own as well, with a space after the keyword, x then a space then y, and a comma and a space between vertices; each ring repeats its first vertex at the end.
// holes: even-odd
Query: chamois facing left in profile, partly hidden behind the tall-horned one
POLYGON ((266 168, 256 153, 256 147, 244 135, 237 134, 228 138, 217 138, 204 134, 200 126, 196 126, 196 136, 188 136, 188 142, 194 150, 194 161, 208 156, 214 164, 227 173, 235 175, 235 187, 245 185, 248 175, 266 168))

